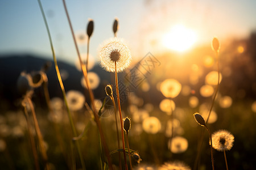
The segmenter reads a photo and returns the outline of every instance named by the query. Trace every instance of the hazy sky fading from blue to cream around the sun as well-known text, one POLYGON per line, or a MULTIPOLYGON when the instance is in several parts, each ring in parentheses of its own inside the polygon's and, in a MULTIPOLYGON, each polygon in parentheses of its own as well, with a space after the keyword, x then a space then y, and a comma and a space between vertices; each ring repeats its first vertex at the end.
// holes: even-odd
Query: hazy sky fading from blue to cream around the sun
MULTIPOLYGON (((100 44, 113 37, 114 18, 119 19, 118 37, 125 39, 135 58, 164 50, 162 39, 175 25, 196 32, 194 45, 241 39, 256 28, 254 0, 162 0, 85 1, 66 0, 76 35, 84 34, 88 19, 94 20, 90 54, 98 60, 100 44)), ((77 54, 60 0, 42 1, 57 59, 75 63, 77 54)), ((81 53, 86 44, 80 44, 81 53)), ((0 1, 0 54, 39 54, 52 59, 46 27, 38 1, 0 1)))

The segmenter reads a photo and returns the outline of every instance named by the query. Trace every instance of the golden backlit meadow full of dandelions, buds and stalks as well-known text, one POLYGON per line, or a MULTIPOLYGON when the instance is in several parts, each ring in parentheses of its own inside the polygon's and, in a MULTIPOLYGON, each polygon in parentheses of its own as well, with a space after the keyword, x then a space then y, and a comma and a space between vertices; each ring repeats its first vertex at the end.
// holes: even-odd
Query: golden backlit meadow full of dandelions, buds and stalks
POLYGON ((83 37, 75 36, 63 1, 81 73, 72 83, 82 87, 67 91, 68 73, 59 69, 38 2, 53 59, 15 80, 19 100, 0 115, 0 169, 256 168, 254 36, 224 45, 213 37, 184 54, 148 52, 133 61, 115 18, 94 62, 94 21, 81 56, 83 37), (48 89, 49 76, 58 86, 48 89))

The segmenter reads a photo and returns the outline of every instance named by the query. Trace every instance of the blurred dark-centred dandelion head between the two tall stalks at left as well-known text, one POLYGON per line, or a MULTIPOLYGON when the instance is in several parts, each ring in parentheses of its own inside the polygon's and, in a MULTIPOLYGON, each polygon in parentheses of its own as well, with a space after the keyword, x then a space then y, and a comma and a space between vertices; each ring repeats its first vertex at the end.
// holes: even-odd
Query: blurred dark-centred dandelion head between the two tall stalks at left
POLYGON ((80 91, 70 90, 67 92, 67 102, 71 111, 78 111, 84 107, 85 97, 80 91))

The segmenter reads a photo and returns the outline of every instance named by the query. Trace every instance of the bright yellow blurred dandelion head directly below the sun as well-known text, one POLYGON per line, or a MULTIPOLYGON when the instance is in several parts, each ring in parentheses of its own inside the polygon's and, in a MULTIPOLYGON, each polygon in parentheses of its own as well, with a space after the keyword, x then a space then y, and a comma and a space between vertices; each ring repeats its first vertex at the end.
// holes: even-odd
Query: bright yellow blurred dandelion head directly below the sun
POLYGON ((160 91, 164 96, 174 98, 180 94, 181 84, 175 79, 166 79, 161 83, 160 91))

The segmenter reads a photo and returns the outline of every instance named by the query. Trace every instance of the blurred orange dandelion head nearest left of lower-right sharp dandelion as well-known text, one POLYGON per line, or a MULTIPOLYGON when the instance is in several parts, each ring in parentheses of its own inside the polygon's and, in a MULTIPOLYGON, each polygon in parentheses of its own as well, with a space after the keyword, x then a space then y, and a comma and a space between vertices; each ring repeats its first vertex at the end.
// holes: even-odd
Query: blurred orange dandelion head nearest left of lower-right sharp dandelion
POLYGON ((185 152, 188 148, 188 141, 183 137, 174 137, 168 142, 168 147, 174 154, 185 152))

